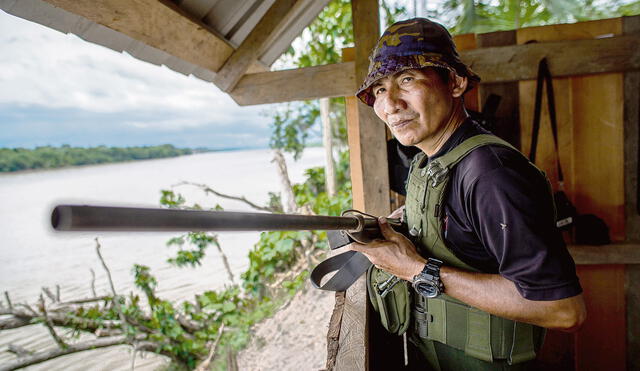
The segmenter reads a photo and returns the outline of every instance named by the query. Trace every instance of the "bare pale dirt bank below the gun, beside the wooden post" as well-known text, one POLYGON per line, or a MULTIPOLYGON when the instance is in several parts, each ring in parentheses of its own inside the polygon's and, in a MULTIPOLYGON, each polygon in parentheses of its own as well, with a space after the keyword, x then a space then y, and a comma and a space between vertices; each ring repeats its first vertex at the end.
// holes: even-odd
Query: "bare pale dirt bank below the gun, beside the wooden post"
POLYGON ((238 354, 238 369, 324 369, 334 303, 334 292, 317 290, 307 283, 286 307, 252 329, 251 343, 238 354))

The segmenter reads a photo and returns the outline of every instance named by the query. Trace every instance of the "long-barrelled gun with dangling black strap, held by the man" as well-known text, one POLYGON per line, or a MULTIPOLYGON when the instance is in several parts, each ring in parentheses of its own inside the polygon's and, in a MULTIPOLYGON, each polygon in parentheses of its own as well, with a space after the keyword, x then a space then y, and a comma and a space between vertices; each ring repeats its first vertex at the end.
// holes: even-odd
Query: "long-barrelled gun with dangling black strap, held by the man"
MULTIPOLYGON (((396 231, 405 232, 400 219, 388 219, 396 231)), ((58 205, 51 213, 56 231, 167 232, 167 231, 292 231, 326 230, 334 250, 351 242, 367 243, 383 238, 376 217, 357 210, 342 216, 248 213, 184 209, 58 205)), ((344 291, 369 267, 361 253, 347 251, 318 264, 310 275, 318 289, 344 291), (322 279, 336 272, 326 283, 322 279)))

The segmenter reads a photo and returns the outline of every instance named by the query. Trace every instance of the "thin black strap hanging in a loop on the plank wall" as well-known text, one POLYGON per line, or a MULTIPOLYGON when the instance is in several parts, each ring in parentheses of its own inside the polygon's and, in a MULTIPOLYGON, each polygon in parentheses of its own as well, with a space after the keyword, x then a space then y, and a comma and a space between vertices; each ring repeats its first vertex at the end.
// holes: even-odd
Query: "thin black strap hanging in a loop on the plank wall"
POLYGON ((536 102, 533 111, 533 132, 531 134, 531 151, 529 152, 529 160, 532 163, 536 161, 536 150, 538 147, 538 132, 540 131, 540 113, 542 110, 542 88, 547 83, 547 104, 549 106, 549 119, 551 121, 551 132, 553 133, 553 144, 556 149, 556 161, 558 166, 558 182, 562 187, 564 177, 562 175, 562 167, 560 166, 560 151, 558 148, 558 123, 556 121, 556 102, 553 95, 553 79, 549 71, 547 58, 542 58, 538 64, 538 83, 536 85, 536 102))

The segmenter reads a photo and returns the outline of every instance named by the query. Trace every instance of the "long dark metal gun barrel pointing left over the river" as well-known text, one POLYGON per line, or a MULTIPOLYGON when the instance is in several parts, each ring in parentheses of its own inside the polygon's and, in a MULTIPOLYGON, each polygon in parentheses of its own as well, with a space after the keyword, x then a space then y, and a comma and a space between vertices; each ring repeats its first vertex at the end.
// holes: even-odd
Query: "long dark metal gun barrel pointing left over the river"
POLYGON ((354 216, 320 216, 59 205, 51 213, 58 231, 288 231, 348 230, 377 226, 377 221, 354 216), (363 226, 360 226, 364 222, 363 226))

